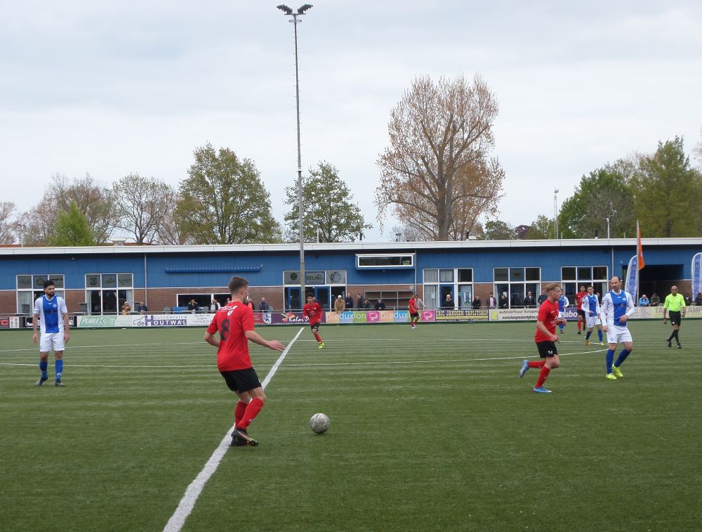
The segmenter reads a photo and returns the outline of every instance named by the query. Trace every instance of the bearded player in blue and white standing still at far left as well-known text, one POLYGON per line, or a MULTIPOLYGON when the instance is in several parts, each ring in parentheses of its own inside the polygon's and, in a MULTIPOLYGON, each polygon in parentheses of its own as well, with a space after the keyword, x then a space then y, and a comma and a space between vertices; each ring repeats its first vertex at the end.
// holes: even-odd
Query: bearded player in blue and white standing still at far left
POLYGON ((48 352, 53 347, 53 357, 55 359, 56 386, 65 386, 61 382, 63 373, 63 351, 71 335, 68 332, 68 309, 66 301, 55 295, 56 287, 53 280, 44 281, 44 295, 37 297, 34 301, 34 319, 32 320, 32 342, 37 343, 37 318, 41 326, 41 338, 39 339, 39 369, 41 377, 34 383, 41 386, 48 380, 48 352), (59 314, 63 319, 60 318, 59 314))

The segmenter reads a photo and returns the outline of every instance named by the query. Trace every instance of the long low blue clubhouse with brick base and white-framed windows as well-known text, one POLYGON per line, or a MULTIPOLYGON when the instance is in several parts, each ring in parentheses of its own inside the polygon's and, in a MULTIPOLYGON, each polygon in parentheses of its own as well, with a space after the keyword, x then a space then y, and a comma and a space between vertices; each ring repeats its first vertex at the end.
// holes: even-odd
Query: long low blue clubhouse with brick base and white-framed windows
MULTIPOLYGON (((701 238, 642 241, 645 268, 640 292, 661 299, 676 284, 691 291, 691 261, 701 238)), ((406 309, 413 292, 427 309, 451 294, 456 309, 483 305, 490 293, 510 307, 535 297, 545 283, 562 283, 569 298, 578 286, 607 291, 611 275, 623 275, 636 253, 635 239, 463 240, 458 242, 358 242, 305 245, 305 288, 325 309, 338 295, 359 295, 373 304, 406 309)), ((224 304, 227 282, 241 275, 258 306, 265 297, 276 310, 300 308, 298 245, 198 245, 100 247, 0 247, 0 315, 27 315, 54 280, 69 313, 117 314, 124 301, 143 301, 150 312, 179 309, 190 301, 224 304)), ((691 294, 692 299, 696 294, 691 294)))

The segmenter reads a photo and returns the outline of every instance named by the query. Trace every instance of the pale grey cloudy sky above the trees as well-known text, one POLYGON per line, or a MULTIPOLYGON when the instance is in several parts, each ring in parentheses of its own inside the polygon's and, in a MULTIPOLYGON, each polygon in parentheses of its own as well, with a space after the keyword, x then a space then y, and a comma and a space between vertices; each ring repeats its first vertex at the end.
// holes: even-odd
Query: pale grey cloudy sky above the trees
MULTIPOLYGON (((552 216, 581 176, 702 126, 696 0, 312 0, 298 26, 303 167, 326 160, 377 228, 376 160, 417 75, 496 93, 501 219, 552 216)), ((277 1, 1 0, 0 200, 35 205, 52 174, 177 186, 192 151, 256 163, 282 221, 296 179, 293 25, 277 1)), ((289 4, 297 8, 300 4, 289 4)))

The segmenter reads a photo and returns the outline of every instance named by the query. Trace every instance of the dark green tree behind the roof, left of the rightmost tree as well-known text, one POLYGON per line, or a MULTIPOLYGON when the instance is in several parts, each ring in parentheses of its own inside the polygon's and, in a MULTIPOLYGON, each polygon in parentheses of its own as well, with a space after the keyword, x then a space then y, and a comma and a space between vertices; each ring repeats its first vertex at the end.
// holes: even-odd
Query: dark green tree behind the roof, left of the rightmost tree
POLYGON ((632 235, 634 190, 630 185, 634 164, 618 160, 583 176, 574 195, 561 205, 558 231, 564 238, 594 238, 595 231, 607 236, 607 218, 612 238, 632 235))

